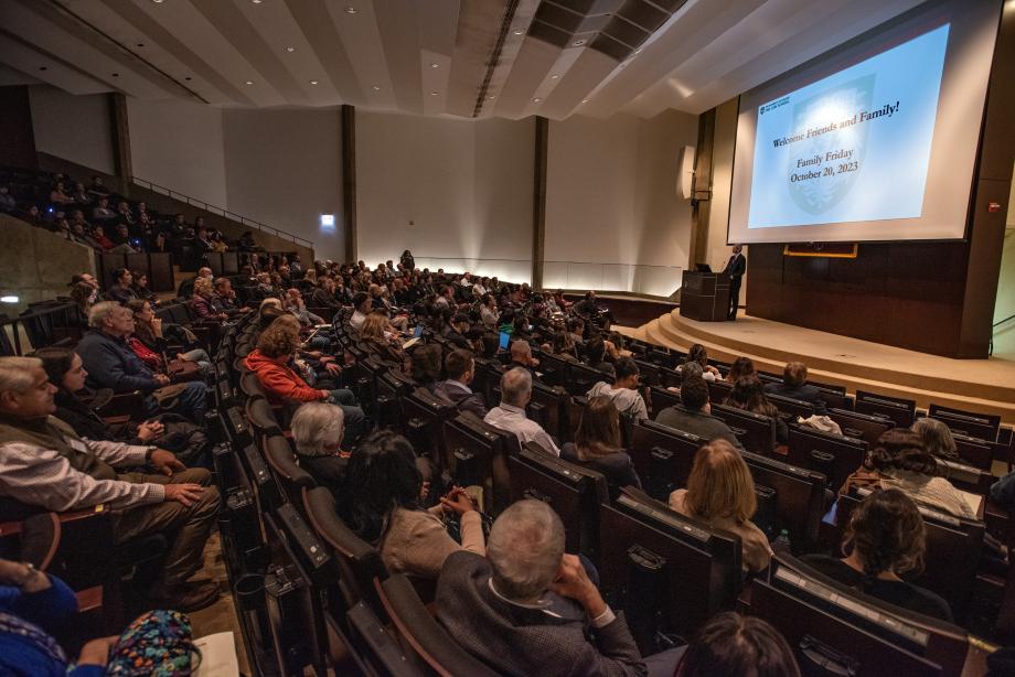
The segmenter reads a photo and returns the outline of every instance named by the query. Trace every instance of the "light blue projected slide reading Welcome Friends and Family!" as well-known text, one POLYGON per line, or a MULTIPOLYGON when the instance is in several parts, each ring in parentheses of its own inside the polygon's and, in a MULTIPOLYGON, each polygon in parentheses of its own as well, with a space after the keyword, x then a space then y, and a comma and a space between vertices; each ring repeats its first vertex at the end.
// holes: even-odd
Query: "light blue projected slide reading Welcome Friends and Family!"
POLYGON ((948 32, 759 106, 748 228, 921 216, 948 32))

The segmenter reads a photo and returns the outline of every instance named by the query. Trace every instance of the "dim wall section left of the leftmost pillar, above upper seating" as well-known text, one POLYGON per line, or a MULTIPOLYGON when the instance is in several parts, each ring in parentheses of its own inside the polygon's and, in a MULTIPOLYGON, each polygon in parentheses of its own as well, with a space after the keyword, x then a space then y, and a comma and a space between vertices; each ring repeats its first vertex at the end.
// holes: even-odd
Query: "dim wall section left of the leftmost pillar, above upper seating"
POLYGON ((29 100, 36 150, 113 173, 113 130, 105 94, 74 96, 49 85, 33 85, 29 100))

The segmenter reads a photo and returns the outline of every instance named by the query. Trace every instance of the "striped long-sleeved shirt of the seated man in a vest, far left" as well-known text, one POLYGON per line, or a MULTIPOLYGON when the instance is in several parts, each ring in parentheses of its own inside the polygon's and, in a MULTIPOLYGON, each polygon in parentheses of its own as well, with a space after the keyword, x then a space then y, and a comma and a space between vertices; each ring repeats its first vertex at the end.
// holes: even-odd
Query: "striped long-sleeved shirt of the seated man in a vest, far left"
MULTIPOLYGON (((124 442, 67 440, 86 449, 100 461, 111 465, 145 465, 151 447, 124 442)), ((161 484, 133 483, 120 480, 96 480, 74 470, 70 461, 53 449, 31 442, 0 444, 0 496, 47 511, 64 512, 105 503, 109 508, 127 508, 165 499, 161 484)))

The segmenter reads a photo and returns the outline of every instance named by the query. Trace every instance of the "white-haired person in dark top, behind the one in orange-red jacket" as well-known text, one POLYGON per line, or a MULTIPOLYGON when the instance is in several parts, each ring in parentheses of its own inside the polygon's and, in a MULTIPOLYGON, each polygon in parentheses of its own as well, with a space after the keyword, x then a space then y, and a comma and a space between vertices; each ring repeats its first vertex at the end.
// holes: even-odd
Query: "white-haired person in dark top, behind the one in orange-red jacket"
POLYGON ((345 476, 349 452, 341 450, 345 413, 338 405, 307 402, 290 423, 300 468, 321 485, 336 493, 345 476))

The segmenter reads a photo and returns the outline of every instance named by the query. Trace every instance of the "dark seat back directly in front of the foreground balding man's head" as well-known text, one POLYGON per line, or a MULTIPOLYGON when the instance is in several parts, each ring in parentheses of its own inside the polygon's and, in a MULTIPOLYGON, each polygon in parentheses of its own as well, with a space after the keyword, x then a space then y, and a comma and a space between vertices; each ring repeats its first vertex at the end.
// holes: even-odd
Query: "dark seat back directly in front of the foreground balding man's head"
POLYGON ((535 442, 509 456, 511 502, 536 498, 554 508, 564 523, 567 552, 581 552, 595 563, 599 556, 599 506, 609 503, 602 474, 558 459, 535 442))

